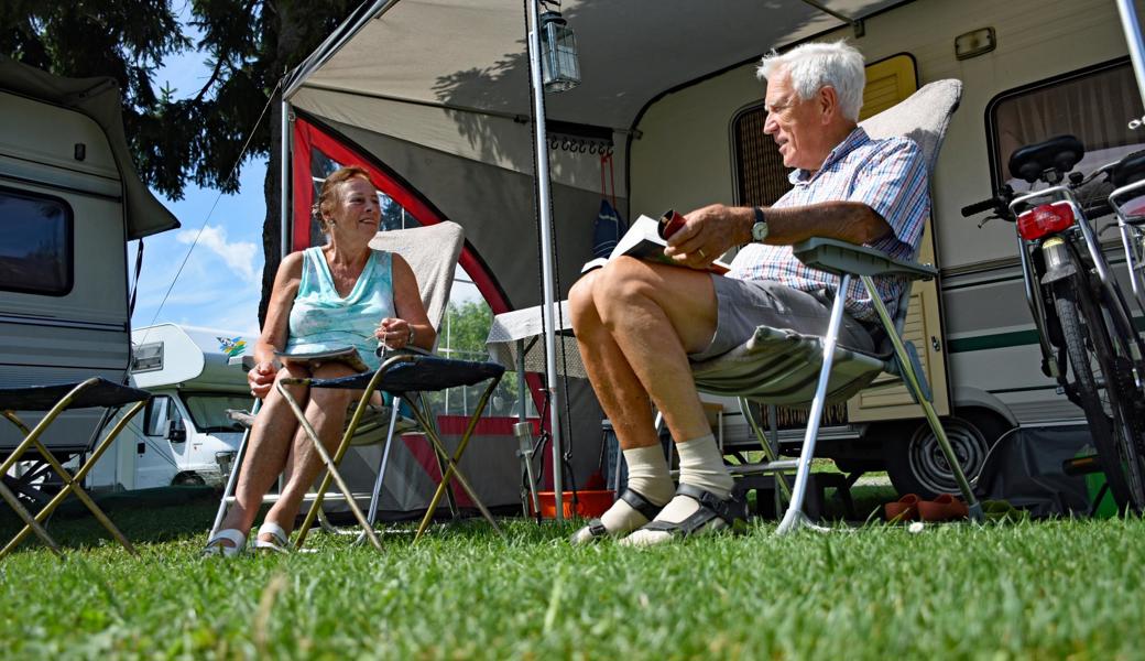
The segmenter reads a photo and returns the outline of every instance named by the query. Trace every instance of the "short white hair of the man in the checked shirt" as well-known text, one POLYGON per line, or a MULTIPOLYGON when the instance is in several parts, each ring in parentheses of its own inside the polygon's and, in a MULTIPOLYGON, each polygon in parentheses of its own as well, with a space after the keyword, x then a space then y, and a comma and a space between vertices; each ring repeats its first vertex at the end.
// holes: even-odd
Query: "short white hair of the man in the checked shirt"
POLYGON ((839 110, 852 121, 859 121, 862 88, 867 81, 862 53, 845 41, 804 44, 780 55, 764 55, 756 76, 766 80, 780 72, 791 76, 791 86, 800 101, 813 97, 830 85, 839 96, 839 110))

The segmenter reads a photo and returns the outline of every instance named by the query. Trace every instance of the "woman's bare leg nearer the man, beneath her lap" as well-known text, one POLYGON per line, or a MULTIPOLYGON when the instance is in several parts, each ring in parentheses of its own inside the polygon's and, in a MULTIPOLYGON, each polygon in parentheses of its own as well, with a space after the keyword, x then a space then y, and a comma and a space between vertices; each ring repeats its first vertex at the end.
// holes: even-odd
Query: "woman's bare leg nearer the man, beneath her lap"
MULTIPOLYGON (((333 379, 353 375, 354 371, 344 364, 324 364, 314 371, 315 378, 333 379)), ((342 438, 346 423, 346 407, 356 398, 357 391, 335 388, 311 388, 310 401, 306 407, 306 419, 314 426, 318 439, 327 453, 333 454, 342 438)), ((286 466, 286 483, 283 486, 278 501, 267 512, 267 521, 282 526, 289 535, 294 529, 294 519, 302 505, 302 498, 314 485, 322 471, 322 457, 314 448, 306 431, 299 427, 294 433, 286 466)), ((260 538, 262 536, 260 535, 260 538)), ((267 536, 266 541, 274 541, 267 536)))

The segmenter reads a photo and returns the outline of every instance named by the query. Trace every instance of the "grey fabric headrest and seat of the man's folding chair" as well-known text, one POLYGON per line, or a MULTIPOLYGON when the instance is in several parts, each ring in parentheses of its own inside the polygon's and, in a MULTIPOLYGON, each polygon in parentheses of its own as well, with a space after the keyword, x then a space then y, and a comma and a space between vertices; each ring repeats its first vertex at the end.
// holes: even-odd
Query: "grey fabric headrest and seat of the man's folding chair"
MULTIPOLYGON (((906 136, 922 151, 927 173, 933 172, 950 116, 962 99, 962 81, 938 80, 923 86, 901 103, 860 123, 875 139, 906 136)), ((910 286, 903 288, 895 314, 901 335, 910 286)), ((827 403, 840 402, 870 385, 881 372, 898 373, 885 333, 876 331, 877 349, 866 354, 838 347, 827 389, 827 403)), ((694 363, 693 377, 702 392, 744 396, 796 408, 811 406, 822 365, 823 341, 789 329, 759 326, 731 352, 694 363)))

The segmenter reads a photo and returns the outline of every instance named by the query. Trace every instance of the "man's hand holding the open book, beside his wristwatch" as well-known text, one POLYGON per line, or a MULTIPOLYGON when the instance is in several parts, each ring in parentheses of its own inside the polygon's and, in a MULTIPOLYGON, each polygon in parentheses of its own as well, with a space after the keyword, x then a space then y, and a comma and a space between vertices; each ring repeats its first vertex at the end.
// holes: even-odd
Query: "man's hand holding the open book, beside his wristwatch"
POLYGON ((668 239, 664 250, 681 266, 706 268, 729 247, 751 241, 753 215, 748 207, 712 204, 684 218, 684 227, 668 239))

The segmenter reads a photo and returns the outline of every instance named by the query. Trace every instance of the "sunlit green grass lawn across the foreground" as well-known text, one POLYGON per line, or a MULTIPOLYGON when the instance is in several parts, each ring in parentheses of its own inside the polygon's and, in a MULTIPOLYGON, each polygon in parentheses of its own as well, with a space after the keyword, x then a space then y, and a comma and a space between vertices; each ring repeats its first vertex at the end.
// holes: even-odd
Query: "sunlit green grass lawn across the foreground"
MULTIPOLYGON (((884 490, 885 491, 885 490, 884 490)), ((884 491, 868 495, 867 505, 884 491)), ((176 498, 175 501, 179 501, 176 498)), ((868 507, 869 511, 869 507, 868 507)), ((1145 521, 749 534, 572 549, 571 526, 200 559, 214 502, 111 507, 0 561, 0 654, 286 659, 1140 659, 1145 521)), ((10 534, 15 519, 0 519, 10 534)))

